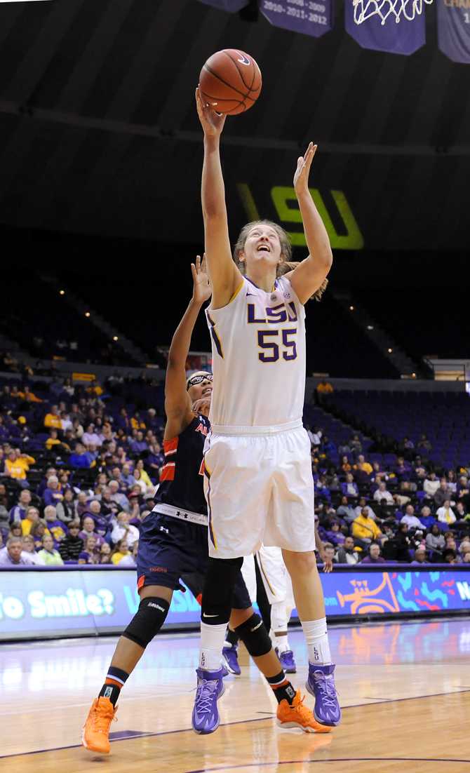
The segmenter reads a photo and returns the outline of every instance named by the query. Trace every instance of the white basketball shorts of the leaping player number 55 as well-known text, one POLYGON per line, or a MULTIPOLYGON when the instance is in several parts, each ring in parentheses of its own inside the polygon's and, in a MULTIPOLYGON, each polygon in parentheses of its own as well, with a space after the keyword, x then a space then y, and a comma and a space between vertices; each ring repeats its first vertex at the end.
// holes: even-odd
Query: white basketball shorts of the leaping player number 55
POLYGON ((210 556, 249 556, 261 544, 315 549, 310 440, 301 422, 213 426, 204 470, 210 556))

